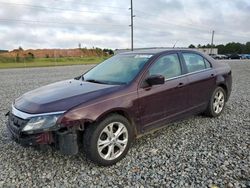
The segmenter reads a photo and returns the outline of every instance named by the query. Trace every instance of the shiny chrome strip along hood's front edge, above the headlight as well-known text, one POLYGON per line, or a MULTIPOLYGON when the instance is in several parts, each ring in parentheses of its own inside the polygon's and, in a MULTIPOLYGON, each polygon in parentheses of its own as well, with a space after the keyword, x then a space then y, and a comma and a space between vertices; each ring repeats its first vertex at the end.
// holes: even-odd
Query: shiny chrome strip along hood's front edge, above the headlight
POLYGON ((25 113, 25 112, 22 112, 22 111, 16 109, 14 107, 14 105, 12 104, 11 112, 13 115, 15 115, 21 119, 30 119, 30 118, 37 117, 37 116, 49 116, 49 115, 63 114, 66 111, 49 112, 49 113, 41 113, 41 114, 29 114, 29 113, 25 113))

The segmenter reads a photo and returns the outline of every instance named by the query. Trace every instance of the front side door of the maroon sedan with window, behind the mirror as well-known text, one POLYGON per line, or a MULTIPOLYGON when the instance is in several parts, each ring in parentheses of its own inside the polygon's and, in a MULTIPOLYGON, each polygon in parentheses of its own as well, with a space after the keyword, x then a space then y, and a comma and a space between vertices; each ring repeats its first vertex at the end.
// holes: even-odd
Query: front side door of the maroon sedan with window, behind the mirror
POLYGON ((187 78, 182 76, 182 66, 177 53, 159 57, 149 67, 143 80, 151 75, 164 76, 165 83, 138 88, 139 114, 143 130, 161 126, 160 122, 187 107, 187 78))

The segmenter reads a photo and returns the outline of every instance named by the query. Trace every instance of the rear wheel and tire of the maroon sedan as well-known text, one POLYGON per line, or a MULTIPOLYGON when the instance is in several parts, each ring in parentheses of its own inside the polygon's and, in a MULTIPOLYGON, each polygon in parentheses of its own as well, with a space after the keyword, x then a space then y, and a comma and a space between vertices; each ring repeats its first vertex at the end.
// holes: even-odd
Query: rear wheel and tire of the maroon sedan
POLYGON ((218 117, 221 115, 226 104, 226 92, 222 87, 217 87, 210 100, 205 115, 209 117, 218 117))

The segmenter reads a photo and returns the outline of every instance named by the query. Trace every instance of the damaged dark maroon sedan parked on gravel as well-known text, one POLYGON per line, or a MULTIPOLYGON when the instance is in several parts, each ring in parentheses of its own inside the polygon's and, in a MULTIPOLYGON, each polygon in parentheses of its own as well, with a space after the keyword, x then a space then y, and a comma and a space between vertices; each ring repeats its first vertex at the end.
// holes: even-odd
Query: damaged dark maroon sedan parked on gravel
POLYGON ((193 50, 128 52, 22 95, 7 127, 22 145, 54 145, 66 154, 83 147, 107 166, 139 135, 193 114, 219 116, 231 85, 227 64, 193 50))

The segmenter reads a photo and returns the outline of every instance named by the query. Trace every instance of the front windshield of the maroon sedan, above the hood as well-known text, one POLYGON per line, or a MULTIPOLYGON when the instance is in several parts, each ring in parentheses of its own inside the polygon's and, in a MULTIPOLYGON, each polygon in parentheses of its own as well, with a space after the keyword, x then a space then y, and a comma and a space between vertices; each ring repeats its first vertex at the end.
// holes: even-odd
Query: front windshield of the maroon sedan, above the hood
POLYGON ((84 74, 83 79, 101 84, 128 84, 151 56, 149 54, 115 55, 84 74))

